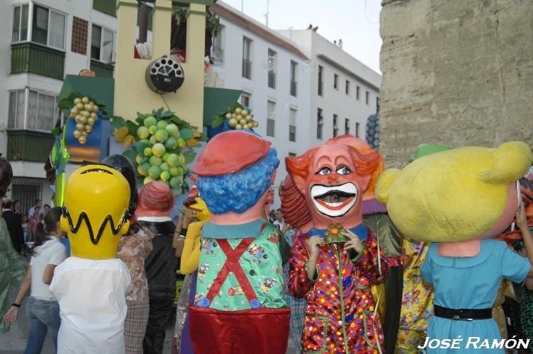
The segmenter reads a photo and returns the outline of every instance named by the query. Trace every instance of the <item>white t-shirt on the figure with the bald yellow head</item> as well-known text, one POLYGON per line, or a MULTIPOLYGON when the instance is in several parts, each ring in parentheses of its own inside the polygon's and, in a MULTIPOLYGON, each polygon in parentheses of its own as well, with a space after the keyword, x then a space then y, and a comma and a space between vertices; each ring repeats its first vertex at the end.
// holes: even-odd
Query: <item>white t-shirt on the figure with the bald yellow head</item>
POLYGON ((58 354, 123 354, 130 271, 118 258, 69 257, 55 268, 50 291, 60 304, 58 354))

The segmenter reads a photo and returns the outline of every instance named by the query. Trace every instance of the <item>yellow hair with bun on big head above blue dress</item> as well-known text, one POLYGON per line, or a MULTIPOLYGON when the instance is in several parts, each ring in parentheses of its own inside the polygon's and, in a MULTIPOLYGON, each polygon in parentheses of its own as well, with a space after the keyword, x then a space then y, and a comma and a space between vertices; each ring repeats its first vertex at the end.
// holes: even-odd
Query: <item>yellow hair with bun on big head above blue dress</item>
POLYGON ((531 166, 523 142, 498 149, 464 147, 384 171, 376 198, 386 203, 400 232, 419 241, 456 242, 492 237, 517 210, 516 181, 531 166))

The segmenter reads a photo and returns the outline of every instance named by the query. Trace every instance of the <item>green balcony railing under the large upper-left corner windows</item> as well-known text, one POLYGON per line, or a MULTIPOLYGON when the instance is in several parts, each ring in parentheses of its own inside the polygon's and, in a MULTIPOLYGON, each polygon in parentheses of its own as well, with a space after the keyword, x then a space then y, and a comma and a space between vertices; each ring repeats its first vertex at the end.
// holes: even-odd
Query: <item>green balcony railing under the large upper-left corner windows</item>
POLYGON ((11 74, 30 72, 62 80, 64 52, 33 42, 11 45, 11 74))

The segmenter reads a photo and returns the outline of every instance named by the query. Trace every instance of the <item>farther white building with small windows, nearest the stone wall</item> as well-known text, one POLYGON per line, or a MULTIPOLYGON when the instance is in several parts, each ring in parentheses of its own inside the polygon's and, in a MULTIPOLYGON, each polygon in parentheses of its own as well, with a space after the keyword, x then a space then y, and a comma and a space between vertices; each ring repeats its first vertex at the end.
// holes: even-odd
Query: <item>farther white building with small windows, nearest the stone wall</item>
POLYGON ((381 75, 313 30, 279 30, 311 60, 310 146, 348 133, 365 139, 366 118, 379 110, 381 75))

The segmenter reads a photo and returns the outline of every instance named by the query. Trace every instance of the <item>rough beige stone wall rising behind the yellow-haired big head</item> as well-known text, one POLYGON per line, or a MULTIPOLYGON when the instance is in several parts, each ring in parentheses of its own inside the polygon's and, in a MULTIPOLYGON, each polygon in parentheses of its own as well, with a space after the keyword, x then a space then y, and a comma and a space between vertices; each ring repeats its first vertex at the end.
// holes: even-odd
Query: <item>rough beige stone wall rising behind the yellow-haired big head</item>
POLYGON ((533 147, 532 0, 383 0, 381 152, 533 147))

